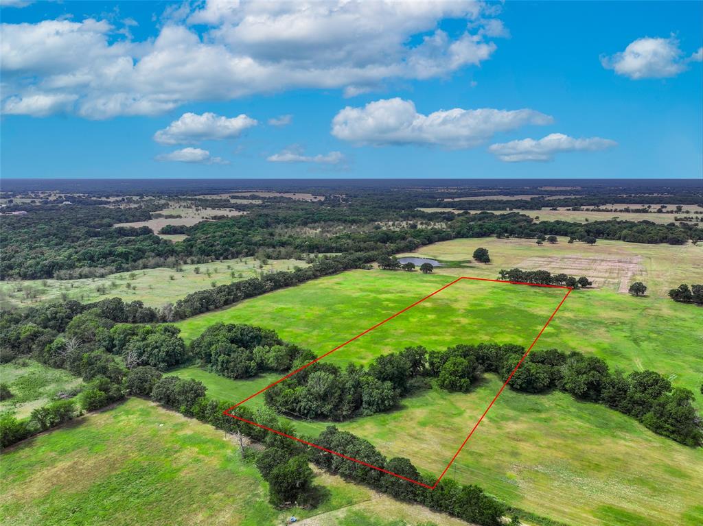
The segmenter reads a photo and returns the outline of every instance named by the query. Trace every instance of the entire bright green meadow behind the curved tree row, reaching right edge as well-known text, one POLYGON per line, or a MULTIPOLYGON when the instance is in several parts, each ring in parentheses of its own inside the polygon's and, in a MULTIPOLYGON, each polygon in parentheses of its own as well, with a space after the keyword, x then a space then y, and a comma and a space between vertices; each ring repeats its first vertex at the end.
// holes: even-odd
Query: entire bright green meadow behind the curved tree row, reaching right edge
MULTIPOLYGON (((349 340, 455 279, 420 272, 354 270, 252 298, 177 324, 186 341, 217 322, 275 329, 316 355, 349 340)), ((562 289, 463 280, 441 291, 325 360, 368 363, 406 346, 446 348, 457 343, 529 346, 560 301, 562 289)), ((536 349, 579 350, 628 373, 652 369, 696 393, 703 381, 703 310, 664 298, 633 298, 608 289, 574 291, 544 331, 536 349)))

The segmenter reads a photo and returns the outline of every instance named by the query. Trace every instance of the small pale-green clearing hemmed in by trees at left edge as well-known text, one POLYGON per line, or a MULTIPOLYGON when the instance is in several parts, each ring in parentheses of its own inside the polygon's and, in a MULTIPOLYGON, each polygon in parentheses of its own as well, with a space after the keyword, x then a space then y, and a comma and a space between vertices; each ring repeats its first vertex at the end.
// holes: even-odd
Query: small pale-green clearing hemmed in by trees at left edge
POLYGON ((0 402, 0 414, 23 419, 32 410, 51 402, 58 393, 79 387, 82 380, 63 369, 20 358, 0 364, 0 382, 6 383, 12 397, 0 402))

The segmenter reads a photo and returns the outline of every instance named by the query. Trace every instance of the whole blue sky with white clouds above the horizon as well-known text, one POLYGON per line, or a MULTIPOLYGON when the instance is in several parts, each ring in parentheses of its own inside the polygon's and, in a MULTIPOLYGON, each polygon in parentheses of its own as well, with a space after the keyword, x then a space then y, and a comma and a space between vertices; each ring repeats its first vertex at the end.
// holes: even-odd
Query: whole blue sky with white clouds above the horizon
POLYGON ((6 178, 703 178, 701 2, 2 4, 6 178))

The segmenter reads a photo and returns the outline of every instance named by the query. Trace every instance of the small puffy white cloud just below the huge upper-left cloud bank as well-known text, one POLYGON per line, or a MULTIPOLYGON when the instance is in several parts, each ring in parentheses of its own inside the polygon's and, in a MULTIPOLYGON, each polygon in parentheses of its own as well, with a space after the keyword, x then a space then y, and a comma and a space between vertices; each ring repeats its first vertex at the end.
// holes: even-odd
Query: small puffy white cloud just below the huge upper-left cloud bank
POLYGON ((187 144, 200 140, 233 139, 257 124, 255 119, 245 114, 227 118, 210 112, 202 115, 184 113, 180 119, 157 131, 154 140, 161 144, 187 144))

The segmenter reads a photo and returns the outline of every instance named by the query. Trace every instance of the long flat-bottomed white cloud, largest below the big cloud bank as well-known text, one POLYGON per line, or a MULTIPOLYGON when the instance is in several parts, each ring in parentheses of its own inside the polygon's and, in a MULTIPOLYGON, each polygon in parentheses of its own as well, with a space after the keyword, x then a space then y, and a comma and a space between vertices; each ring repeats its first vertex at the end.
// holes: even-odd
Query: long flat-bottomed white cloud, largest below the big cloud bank
POLYGON ((345 107, 332 121, 333 136, 357 144, 474 147, 494 133, 527 124, 552 124, 535 110, 439 110, 423 115, 411 100, 382 99, 364 107, 345 107))

